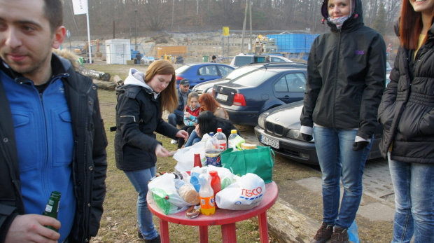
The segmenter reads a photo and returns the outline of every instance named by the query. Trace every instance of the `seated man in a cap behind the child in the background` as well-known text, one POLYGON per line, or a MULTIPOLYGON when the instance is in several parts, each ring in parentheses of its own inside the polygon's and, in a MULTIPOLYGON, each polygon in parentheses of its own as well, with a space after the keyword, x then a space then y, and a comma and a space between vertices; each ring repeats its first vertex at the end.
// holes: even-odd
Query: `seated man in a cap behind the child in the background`
MULTIPOLYGON (((178 108, 174 110, 174 113, 170 113, 167 117, 167 123, 176 127, 176 125, 183 124, 184 120, 184 108, 187 106, 187 97, 190 94, 190 81, 187 78, 181 79, 179 81, 178 89, 178 108)), ((177 144, 178 140, 173 139, 170 141, 171 144, 177 144)))

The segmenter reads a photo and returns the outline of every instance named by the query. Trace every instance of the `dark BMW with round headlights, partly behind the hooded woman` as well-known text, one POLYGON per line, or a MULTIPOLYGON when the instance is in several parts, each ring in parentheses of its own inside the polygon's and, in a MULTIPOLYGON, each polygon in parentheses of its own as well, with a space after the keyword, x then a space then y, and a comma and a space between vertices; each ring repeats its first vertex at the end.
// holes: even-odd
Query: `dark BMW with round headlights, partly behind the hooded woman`
MULTIPOLYGON (((270 146, 274 153, 297 162, 318 165, 314 140, 304 141, 300 133, 302 108, 301 100, 260 114, 255 134, 261 144, 270 146)), ((374 142, 368 160, 381 157, 378 147, 381 134, 382 127, 379 125, 374 132, 374 142)))

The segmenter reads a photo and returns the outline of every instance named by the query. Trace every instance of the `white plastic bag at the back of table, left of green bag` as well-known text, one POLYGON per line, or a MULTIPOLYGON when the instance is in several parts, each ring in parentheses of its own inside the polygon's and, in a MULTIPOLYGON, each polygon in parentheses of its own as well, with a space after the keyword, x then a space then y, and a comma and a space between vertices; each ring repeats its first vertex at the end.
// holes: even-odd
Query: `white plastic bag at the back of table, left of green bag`
POLYGON ((205 165, 206 158, 204 141, 207 141, 208 137, 208 134, 204 134, 200 142, 187 148, 180 148, 178 151, 176 151, 174 154, 174 159, 178 163, 175 165, 175 171, 190 172, 191 169, 193 169, 193 165, 195 164, 195 153, 200 153, 200 161, 202 162, 202 165, 205 165))

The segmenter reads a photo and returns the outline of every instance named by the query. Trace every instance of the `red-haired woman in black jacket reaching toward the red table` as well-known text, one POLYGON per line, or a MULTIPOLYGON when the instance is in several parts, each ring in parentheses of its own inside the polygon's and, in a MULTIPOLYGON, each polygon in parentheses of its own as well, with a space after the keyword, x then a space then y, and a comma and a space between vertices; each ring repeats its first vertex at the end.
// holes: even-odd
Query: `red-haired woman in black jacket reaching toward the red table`
POLYGON ((169 151, 155 138, 158 132, 167 137, 188 138, 188 133, 162 119, 162 111, 172 113, 178 106, 175 69, 165 60, 153 62, 146 74, 130 69, 125 85, 116 89, 115 158, 116 167, 123 170, 139 193, 137 216, 139 238, 145 242, 160 242, 153 216, 148 209, 148 181, 156 174, 157 157, 169 156, 169 151))

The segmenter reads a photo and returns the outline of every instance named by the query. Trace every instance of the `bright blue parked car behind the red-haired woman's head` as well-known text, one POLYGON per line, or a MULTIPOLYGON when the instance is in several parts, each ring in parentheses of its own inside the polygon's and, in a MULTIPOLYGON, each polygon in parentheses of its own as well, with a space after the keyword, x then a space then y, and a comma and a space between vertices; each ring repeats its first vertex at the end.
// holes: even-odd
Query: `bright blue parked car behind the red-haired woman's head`
POLYGON ((188 78, 190 80, 190 88, 193 88, 198 83, 221 78, 234 69, 235 67, 221 63, 204 62, 184 64, 175 70, 176 88, 179 88, 179 81, 183 78, 188 78))

